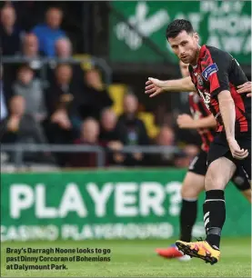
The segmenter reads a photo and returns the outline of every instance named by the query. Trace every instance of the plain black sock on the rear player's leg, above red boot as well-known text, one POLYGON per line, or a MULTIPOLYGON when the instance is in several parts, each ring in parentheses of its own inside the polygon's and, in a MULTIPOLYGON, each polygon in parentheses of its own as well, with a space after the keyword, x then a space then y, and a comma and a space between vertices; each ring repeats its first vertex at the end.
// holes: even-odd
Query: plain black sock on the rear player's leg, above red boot
POLYGON ((197 219, 197 200, 182 200, 180 211, 180 240, 190 242, 192 238, 193 226, 197 219))

